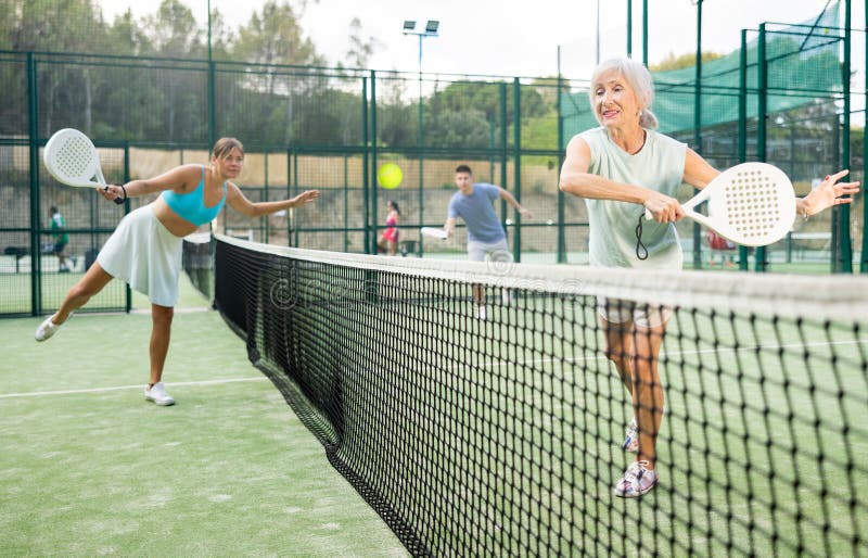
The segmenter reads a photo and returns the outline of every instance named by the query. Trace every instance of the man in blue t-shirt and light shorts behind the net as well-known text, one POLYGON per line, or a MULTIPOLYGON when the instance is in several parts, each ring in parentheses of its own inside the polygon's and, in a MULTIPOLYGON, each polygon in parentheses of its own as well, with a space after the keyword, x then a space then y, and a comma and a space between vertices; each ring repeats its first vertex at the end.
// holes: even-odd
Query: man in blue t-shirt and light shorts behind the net
MULTIPOLYGON (((473 173, 468 165, 455 169, 455 185, 458 191, 449 200, 446 233, 451 237, 458 217, 468 228, 468 255, 473 262, 511 263, 512 254, 507 244, 507 233, 495 213, 494 201, 502 198, 515 207, 522 217, 529 218, 531 212, 499 186, 485 182, 473 183, 473 173)), ((506 295, 506 291, 505 291, 506 295)), ((473 299, 480 305, 480 318, 485 319, 485 296, 482 286, 473 286, 473 299)))

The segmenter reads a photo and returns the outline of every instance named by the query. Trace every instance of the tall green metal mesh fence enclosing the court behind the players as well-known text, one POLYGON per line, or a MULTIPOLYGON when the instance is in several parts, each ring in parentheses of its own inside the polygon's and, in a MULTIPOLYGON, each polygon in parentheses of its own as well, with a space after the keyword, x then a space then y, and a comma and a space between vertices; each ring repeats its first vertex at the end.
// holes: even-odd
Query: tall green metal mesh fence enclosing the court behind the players
MULTIPOLYGON (((703 64, 699 86, 695 68, 655 73, 661 130, 718 168, 756 160, 778 165, 800 194, 844 166, 861 179, 864 134, 851 126, 851 113, 864 123, 864 111, 851 98, 864 99, 864 91, 843 79, 842 52, 864 45, 864 36, 852 40, 832 24, 837 15, 829 17, 743 31, 739 51, 703 64)), ((255 219, 227 210, 214 225, 257 241, 345 252, 376 251, 392 201, 400 211, 400 254, 463 254, 463 230, 439 242, 419 229, 444 223, 454 170, 469 164, 476 181, 502 186, 533 212, 522 220, 505 202, 497 207, 518 261, 587 262, 585 204, 558 189, 566 142, 597 125, 587 81, 15 50, 0 51, 0 78, 3 315, 56 307, 125 212, 153 199, 116 207, 54 182, 41 149, 64 127, 94 139, 115 182, 207 164, 216 138, 237 137, 247 152, 238 182, 252 201, 314 188, 322 195, 315 205, 255 219), (395 189, 376 182, 384 163, 403 169, 395 189), (52 206, 66 220, 67 265, 49 228, 52 206)), ((684 190, 684 198, 692 193, 684 190)), ((686 261, 827 272, 856 263, 868 270, 863 200, 800 220, 786 240, 755 254, 716 253, 699 227, 681 223, 686 261)), ((129 304, 129 291, 113 284, 88 308, 129 304)))

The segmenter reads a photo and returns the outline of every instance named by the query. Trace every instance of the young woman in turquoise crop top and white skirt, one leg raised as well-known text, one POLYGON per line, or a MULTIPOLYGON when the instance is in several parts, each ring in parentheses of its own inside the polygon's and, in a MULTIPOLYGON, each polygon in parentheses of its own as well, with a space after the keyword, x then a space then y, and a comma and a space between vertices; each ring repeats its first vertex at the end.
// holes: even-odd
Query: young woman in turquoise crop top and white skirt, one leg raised
POLYGON ((220 213, 225 204, 247 217, 306 205, 319 196, 308 190, 291 200, 253 203, 230 182, 241 174, 244 148, 234 138, 214 145, 210 165, 181 165, 148 180, 98 189, 106 200, 162 192, 154 202, 124 217, 100 251, 97 262, 75 284, 58 312, 36 330, 36 340, 51 338, 77 308, 118 278, 151 301, 151 377, 144 397, 157 405, 175 400, 163 385, 163 366, 169 348, 174 306, 178 302, 183 237, 220 213))

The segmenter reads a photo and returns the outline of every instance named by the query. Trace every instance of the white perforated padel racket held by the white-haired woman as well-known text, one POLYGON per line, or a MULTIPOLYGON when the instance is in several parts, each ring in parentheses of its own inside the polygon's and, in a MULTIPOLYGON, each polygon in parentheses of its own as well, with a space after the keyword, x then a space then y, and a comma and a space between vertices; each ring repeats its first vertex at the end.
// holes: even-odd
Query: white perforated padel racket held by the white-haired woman
MULTIPOLYGON (((720 173, 690 201, 685 215, 743 246, 773 244, 790 231, 795 219, 795 191, 780 168, 767 163, 742 163, 720 173), (694 211, 709 202, 709 215, 694 211)), ((650 211, 644 212, 653 218, 650 211)))

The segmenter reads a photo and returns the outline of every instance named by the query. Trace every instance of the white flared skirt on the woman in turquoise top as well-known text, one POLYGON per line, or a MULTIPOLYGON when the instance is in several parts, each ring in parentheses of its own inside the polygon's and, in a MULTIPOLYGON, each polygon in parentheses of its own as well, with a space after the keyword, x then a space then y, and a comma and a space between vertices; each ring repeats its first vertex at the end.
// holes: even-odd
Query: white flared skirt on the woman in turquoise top
POLYGON ((148 204, 120 219, 97 262, 153 304, 175 306, 182 251, 183 239, 169 232, 148 204))

